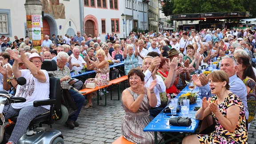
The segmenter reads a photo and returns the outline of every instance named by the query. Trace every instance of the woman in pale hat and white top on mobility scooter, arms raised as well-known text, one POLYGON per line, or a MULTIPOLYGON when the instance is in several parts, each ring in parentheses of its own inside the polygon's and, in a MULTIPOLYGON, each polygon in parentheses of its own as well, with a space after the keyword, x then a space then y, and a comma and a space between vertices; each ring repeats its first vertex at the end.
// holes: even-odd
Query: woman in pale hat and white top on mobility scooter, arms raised
POLYGON ((24 97, 26 102, 12 104, 12 106, 4 106, 5 118, 9 119, 13 116, 18 116, 16 125, 12 131, 7 144, 17 144, 21 136, 26 132, 29 123, 36 116, 48 112, 50 106, 34 107, 35 100, 49 99, 49 76, 46 70, 41 70, 44 58, 40 57, 37 53, 32 53, 29 58, 21 51, 18 56, 15 52, 10 52, 14 58, 12 65, 12 72, 16 78, 24 77, 27 80, 25 85, 18 85, 15 96, 24 97), (28 69, 19 70, 18 62, 22 60, 28 69))

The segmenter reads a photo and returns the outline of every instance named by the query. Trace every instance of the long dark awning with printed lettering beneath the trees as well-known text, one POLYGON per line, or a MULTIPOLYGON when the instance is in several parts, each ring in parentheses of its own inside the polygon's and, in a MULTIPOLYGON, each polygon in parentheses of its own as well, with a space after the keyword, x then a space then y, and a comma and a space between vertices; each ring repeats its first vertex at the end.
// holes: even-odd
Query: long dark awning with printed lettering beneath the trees
POLYGON ((249 17, 249 12, 207 12, 171 15, 171 20, 235 19, 249 17))

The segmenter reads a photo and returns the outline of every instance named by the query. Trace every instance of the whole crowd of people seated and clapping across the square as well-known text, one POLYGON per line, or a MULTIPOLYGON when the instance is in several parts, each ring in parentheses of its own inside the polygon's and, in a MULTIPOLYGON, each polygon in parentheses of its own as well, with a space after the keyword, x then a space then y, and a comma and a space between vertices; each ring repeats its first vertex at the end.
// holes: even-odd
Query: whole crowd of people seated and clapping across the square
MULTIPOLYGON (((134 143, 154 142, 154 133, 143 132, 144 127, 167 106, 170 95, 176 96, 187 82, 193 80, 200 89, 199 96, 203 103, 196 113, 196 118, 202 120, 202 125, 200 133, 185 137, 184 143, 192 140, 198 143, 215 143, 220 140, 244 143, 250 122, 256 114, 255 36, 255 30, 250 28, 244 31, 213 28, 172 33, 130 32, 127 39, 121 40, 111 33, 107 34, 103 42, 98 36, 92 38, 91 35, 81 35, 78 31, 74 37, 67 34, 63 38, 52 35, 50 40, 48 35, 44 36, 40 52, 32 48, 28 37, 23 42, 23 39, 19 40, 15 36, 15 40, 11 42, 9 38, 2 36, 0 76, 3 88, 9 90, 16 85, 16 78, 26 77, 26 73, 30 71, 32 75, 29 79, 39 83, 31 84, 32 81, 29 81, 31 86, 28 88, 31 90, 48 81, 48 75, 40 70, 42 62, 46 59, 56 60, 57 70, 49 73, 60 77, 61 87, 68 89, 76 103, 78 110, 66 122, 69 128, 74 128, 79 126, 76 120, 85 101, 80 89, 85 88, 88 83, 107 85, 110 78, 128 75, 130 87, 122 94, 125 111, 122 135, 134 143), (212 72, 208 77, 202 74, 201 70, 212 62, 217 62, 217 58, 221 58, 219 65, 222 71, 212 72), (113 69, 109 76, 110 62, 120 61, 124 61, 124 73, 113 69), (84 79, 85 82, 78 79, 69 81, 71 71, 80 72, 84 68, 95 69, 96 75, 90 75, 87 80, 84 79), (230 137, 219 136, 223 132, 230 137)), ((16 96, 28 98, 22 93, 24 90, 24 86, 16 87, 16 96)), ((40 90, 34 89, 29 94, 36 94, 40 90)), ((47 86, 45 91, 48 91, 47 86)), ((94 95, 95 93, 87 95, 85 109, 92 107, 94 95)), ((43 99, 47 98, 45 96, 43 99)), ((29 106, 12 106, 13 111, 20 111, 16 115, 23 116, 21 110, 32 107, 29 100, 26 103, 29 106)), ((40 114, 36 111, 34 113, 35 116, 40 114)), ((28 124, 29 120, 26 117, 28 124)), ((26 126, 27 123, 22 123, 20 132, 26 126)), ((20 136, 16 135, 15 137, 20 136)), ((160 140, 160 133, 158 137, 160 140)), ((11 136, 10 144, 11 142, 16 143, 17 139, 11 136)))

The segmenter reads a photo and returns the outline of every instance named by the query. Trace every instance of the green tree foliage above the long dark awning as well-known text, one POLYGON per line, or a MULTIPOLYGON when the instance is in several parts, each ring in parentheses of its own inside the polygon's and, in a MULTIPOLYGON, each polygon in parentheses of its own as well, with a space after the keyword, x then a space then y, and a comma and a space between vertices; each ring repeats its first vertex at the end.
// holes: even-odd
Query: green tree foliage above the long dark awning
POLYGON ((202 12, 245 12, 256 16, 256 0, 163 0, 165 16, 202 12))

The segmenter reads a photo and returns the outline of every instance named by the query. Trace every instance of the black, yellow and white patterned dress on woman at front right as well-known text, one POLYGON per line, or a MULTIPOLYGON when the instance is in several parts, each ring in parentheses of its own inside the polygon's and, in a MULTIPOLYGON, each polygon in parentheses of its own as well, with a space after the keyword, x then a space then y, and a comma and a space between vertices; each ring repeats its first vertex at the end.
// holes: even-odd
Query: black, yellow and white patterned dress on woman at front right
MULTIPOLYGON (((211 102, 214 103, 216 99, 217 96, 212 96, 211 102)), ((218 104, 218 109, 224 117, 227 117, 227 109, 232 105, 240 107, 240 116, 236 124, 236 129, 233 132, 228 132, 212 113, 216 122, 216 130, 208 135, 198 134, 197 138, 201 144, 247 144, 248 134, 245 126, 244 104, 240 98, 235 94, 230 93, 223 103, 218 104)))

